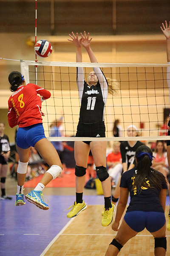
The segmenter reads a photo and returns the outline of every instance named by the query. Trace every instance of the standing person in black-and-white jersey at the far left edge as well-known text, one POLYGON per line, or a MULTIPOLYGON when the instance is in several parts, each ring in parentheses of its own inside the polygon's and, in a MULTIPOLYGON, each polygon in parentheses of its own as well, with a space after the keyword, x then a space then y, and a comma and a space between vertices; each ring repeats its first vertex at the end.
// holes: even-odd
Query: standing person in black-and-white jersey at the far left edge
POLYGON ((8 172, 8 158, 10 156, 9 139, 5 131, 5 124, 0 122, 0 188, 1 200, 11 200, 12 198, 6 195, 6 175, 8 172))

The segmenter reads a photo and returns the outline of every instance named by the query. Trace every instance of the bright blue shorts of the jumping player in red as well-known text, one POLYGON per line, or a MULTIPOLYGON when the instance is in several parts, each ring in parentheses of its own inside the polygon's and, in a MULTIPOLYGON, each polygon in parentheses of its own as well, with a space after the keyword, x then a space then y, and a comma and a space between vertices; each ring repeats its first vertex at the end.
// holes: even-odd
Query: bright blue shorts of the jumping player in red
POLYGON ((20 148, 29 148, 41 139, 46 138, 42 123, 30 125, 27 127, 20 127, 17 131, 16 144, 20 148))

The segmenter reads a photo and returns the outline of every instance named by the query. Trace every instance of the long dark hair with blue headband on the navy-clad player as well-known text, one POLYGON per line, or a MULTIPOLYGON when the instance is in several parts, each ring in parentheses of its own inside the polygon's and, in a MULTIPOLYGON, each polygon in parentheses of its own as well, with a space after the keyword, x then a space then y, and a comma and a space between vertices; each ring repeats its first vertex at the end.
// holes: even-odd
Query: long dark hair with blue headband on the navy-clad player
POLYGON ((157 188, 160 191, 162 189, 162 183, 166 183, 166 180, 164 175, 150 167, 153 159, 152 150, 146 145, 142 145, 137 148, 135 157, 137 161, 137 172, 134 175, 133 188, 136 187, 139 192, 142 186, 146 188, 157 188), (149 184, 147 180, 149 180, 149 184))

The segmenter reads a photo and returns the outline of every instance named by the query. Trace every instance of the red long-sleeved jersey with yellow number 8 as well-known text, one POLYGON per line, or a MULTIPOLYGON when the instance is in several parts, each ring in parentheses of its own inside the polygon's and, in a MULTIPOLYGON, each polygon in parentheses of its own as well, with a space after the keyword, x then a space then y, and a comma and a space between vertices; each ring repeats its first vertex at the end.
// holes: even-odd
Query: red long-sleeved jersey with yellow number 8
POLYGON ((51 93, 36 84, 21 85, 8 99, 8 123, 11 128, 15 125, 26 127, 42 123, 41 98, 48 99, 51 93))

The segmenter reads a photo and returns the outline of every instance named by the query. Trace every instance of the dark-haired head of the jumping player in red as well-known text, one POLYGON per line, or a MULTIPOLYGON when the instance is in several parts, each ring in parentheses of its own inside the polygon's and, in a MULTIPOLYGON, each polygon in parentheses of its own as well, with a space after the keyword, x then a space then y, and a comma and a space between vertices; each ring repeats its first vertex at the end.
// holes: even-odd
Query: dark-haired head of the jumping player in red
POLYGON ((8 81, 11 84, 10 90, 14 92, 23 83, 24 77, 18 71, 12 71, 8 76, 8 81))

